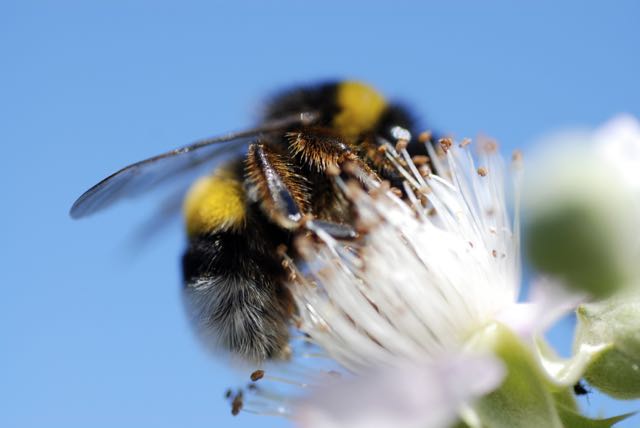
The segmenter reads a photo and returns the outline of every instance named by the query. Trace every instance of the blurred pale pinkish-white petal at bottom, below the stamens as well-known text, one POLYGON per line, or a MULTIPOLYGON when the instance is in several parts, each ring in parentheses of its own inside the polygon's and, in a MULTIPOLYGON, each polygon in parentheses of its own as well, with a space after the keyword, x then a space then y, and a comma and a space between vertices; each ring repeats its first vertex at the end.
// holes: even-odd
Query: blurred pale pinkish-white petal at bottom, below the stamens
POLYGON ((461 407, 495 389, 505 370, 492 357, 445 359, 337 381, 302 402, 294 415, 308 428, 439 428, 461 407))

